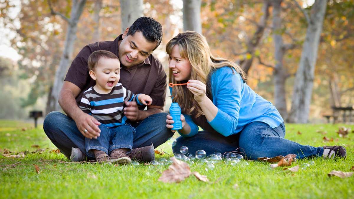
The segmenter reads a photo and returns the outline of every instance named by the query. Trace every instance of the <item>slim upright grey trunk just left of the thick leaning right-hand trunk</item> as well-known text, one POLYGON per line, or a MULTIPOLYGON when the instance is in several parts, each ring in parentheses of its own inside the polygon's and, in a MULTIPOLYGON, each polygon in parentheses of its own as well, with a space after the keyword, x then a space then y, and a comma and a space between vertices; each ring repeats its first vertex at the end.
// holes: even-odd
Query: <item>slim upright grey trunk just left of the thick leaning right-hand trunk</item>
POLYGON ((287 78, 287 71, 284 68, 283 57, 285 54, 284 42, 281 30, 281 4, 282 0, 273 1, 273 40, 274 40, 274 56, 275 66, 273 70, 274 77, 274 105, 278 109, 280 115, 284 120, 287 118, 286 110, 286 96, 285 96, 285 81, 287 78))

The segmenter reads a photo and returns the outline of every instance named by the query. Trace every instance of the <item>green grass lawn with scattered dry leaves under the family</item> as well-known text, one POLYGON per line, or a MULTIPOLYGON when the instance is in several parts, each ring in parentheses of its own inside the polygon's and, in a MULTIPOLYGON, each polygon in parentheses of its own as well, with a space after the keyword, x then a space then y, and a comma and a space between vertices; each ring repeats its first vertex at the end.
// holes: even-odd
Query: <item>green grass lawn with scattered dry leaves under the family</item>
MULTIPOLYGON (((202 182, 190 176, 180 183, 158 181, 168 165, 113 166, 94 163, 69 163, 62 154, 50 153, 55 146, 46 137, 42 126, 0 120, 0 153, 4 148, 12 154, 33 152, 39 145, 42 153, 27 153, 25 158, 7 158, 0 154, 0 198, 354 198, 354 176, 328 177, 332 170, 349 172, 354 166, 354 133, 339 137, 340 126, 354 125, 306 124, 286 125, 286 138, 312 146, 342 145, 347 149, 346 159, 303 159, 290 167, 315 164, 298 172, 270 169, 270 163, 247 161, 249 165, 232 166, 223 160, 215 169, 206 171, 206 164, 190 165, 209 178, 202 182), (298 134, 298 131, 301 134, 298 134), (325 135, 316 131, 327 131, 325 135), (334 141, 324 141, 323 137, 334 141), (35 166, 39 167, 39 174, 35 166)), ((177 137, 177 134, 175 134, 177 137)), ((158 147, 171 154, 169 144, 158 147)), ((156 154, 156 160, 170 155, 156 154)))

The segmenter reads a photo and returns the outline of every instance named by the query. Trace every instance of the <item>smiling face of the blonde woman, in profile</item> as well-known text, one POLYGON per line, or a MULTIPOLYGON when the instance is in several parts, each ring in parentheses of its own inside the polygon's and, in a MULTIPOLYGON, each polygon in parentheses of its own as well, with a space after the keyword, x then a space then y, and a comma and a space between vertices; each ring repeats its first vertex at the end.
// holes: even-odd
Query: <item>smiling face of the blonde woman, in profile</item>
POLYGON ((172 48, 171 55, 169 55, 169 68, 176 81, 189 80, 192 72, 192 65, 189 59, 182 58, 179 54, 179 46, 175 45, 172 48))

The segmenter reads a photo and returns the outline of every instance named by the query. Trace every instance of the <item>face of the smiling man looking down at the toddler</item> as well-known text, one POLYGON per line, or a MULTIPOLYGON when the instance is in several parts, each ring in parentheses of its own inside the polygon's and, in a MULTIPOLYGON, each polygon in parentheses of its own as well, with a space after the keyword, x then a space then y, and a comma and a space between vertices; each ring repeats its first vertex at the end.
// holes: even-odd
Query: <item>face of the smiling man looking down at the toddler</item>
POLYGON ((125 67, 142 63, 156 47, 156 42, 148 42, 141 32, 126 36, 129 29, 123 34, 123 40, 118 47, 118 57, 125 67))

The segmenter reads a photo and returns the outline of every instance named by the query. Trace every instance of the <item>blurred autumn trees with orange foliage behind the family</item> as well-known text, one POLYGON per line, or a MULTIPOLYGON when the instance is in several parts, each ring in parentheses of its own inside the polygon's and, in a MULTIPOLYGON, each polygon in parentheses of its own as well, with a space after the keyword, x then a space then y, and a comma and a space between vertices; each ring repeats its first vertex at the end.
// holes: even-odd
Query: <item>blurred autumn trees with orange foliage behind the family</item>
POLYGON ((195 30, 288 121, 324 121, 331 106, 354 103, 351 0, 0 0, 1 40, 20 57, 0 58, 0 118, 57 110, 56 92, 81 48, 114 40, 143 15, 162 24, 154 55, 166 71, 166 43, 195 30))

